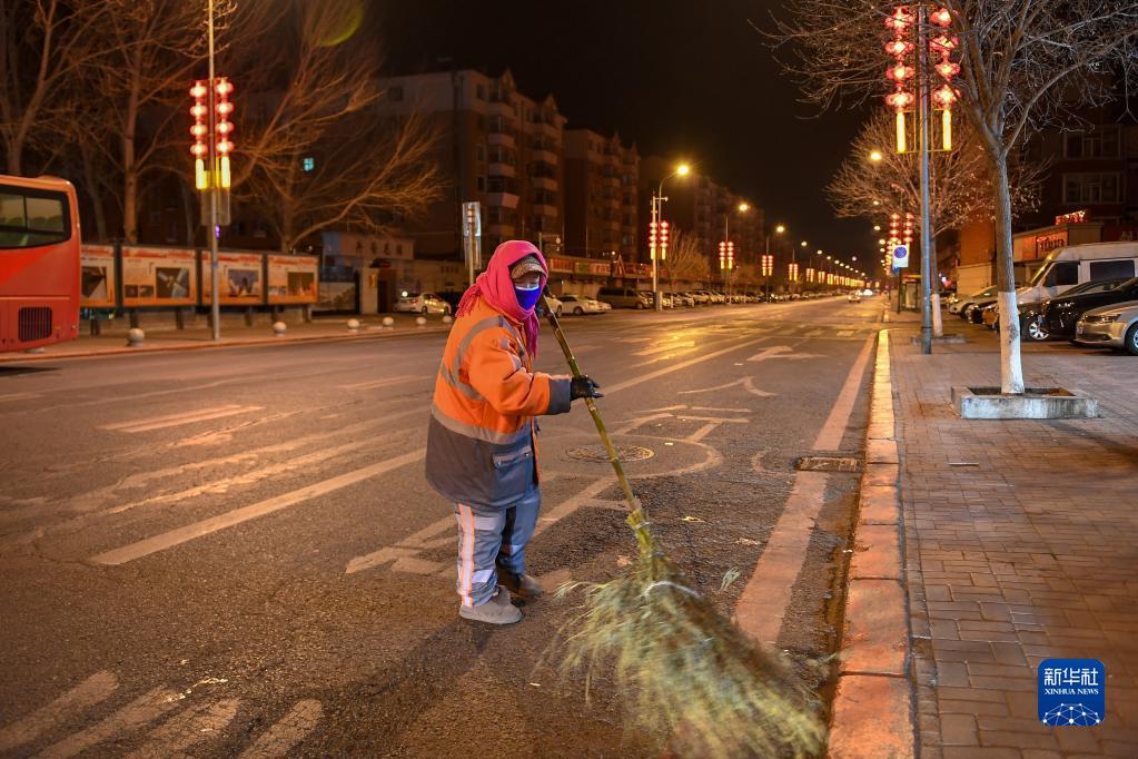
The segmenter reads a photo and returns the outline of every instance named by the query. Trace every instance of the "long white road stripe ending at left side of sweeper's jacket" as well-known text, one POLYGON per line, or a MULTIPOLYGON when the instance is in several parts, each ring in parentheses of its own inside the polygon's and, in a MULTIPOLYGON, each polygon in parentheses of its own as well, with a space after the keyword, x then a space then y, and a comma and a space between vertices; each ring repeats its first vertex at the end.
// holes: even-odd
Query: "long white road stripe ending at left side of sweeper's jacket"
POLYGON ((100 553, 96 556, 91 556, 91 561, 97 564, 125 564, 129 561, 148 556, 151 553, 172 548, 175 545, 181 545, 182 543, 187 543, 195 538, 212 535, 213 533, 233 527, 234 525, 240 525, 241 522, 249 521, 250 519, 264 517, 265 514, 271 514, 274 511, 280 511, 281 509, 287 509, 288 506, 297 503, 303 503, 321 495, 327 495, 328 493, 355 485, 356 482, 362 482, 371 479, 372 477, 378 477, 385 472, 389 472, 394 469, 420 461, 426 453, 426 448, 419 448, 417 451, 412 451, 411 453, 405 453, 402 456, 389 459, 388 461, 370 464, 368 467, 339 475, 338 477, 332 477, 330 479, 302 487, 297 490, 292 490, 291 493, 284 493, 259 503, 254 503, 241 509, 234 509, 233 511, 229 511, 217 517, 204 519, 201 521, 193 522, 192 525, 187 525, 185 527, 179 527, 178 529, 162 533, 160 535, 156 535, 137 543, 131 543, 130 545, 114 548, 113 551, 100 553))

